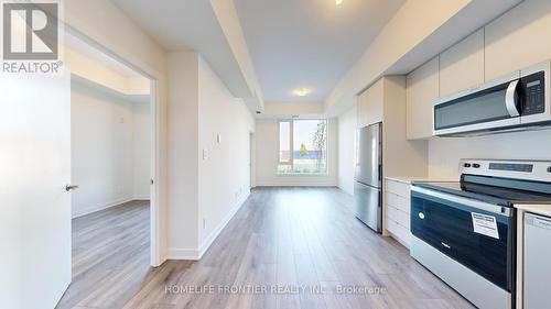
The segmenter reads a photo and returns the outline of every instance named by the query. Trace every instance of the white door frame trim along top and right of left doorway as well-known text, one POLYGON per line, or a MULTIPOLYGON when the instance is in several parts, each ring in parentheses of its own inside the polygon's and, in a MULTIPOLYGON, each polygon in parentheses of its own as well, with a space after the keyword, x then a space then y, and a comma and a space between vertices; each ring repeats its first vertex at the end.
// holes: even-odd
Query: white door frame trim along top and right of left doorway
POLYGON ((161 140, 161 113, 160 113, 160 95, 159 95, 159 79, 154 74, 150 74, 147 70, 140 68, 139 66, 127 60, 122 56, 107 48, 101 43, 89 37, 85 33, 76 30, 75 27, 64 24, 65 32, 78 37, 90 47, 108 55, 109 57, 120 62, 121 64, 128 66, 132 70, 142 75, 150 80, 150 134, 151 134, 151 146, 150 146, 150 175, 151 175, 151 186, 150 186, 150 265, 153 267, 160 266, 163 262, 163 257, 160 251, 160 244, 162 240, 160 239, 163 233, 161 233, 161 220, 160 220, 160 207, 159 207, 159 179, 160 179, 160 166, 161 162, 161 146, 159 141, 161 140))

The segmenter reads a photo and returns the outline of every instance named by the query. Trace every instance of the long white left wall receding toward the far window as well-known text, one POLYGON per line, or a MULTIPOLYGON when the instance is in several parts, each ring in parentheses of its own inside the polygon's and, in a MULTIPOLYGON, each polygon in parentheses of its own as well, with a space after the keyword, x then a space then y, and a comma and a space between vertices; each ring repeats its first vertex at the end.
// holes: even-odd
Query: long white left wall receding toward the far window
POLYGON ((202 254, 249 196, 249 135, 255 119, 202 58, 198 81, 198 143, 199 151, 207 152, 206 158, 199 158, 198 178, 202 254))

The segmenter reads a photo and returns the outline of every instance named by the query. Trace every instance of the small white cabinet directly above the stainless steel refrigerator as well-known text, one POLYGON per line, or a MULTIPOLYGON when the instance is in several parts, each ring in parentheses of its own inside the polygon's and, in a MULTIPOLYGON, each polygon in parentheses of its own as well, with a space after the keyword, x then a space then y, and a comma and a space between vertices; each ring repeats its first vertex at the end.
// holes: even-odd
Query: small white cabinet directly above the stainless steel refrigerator
POLYGON ((383 79, 379 79, 358 97, 358 128, 382 121, 383 79))

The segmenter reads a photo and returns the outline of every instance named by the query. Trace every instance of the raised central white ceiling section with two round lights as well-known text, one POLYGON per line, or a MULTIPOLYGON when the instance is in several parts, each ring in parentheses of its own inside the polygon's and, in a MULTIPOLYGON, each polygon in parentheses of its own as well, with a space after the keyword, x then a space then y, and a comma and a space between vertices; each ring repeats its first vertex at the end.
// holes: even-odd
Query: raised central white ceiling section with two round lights
POLYGON ((234 0, 267 102, 323 101, 404 0, 234 0), (296 97, 296 88, 312 93, 296 97))

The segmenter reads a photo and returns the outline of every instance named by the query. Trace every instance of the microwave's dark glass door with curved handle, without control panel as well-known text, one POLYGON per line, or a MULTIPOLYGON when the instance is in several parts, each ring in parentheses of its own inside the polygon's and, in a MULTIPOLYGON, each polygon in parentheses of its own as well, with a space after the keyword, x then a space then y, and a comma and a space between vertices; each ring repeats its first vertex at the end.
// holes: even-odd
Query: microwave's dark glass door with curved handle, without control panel
POLYGON ((453 135, 521 124, 519 71, 439 100, 434 135, 453 135))

